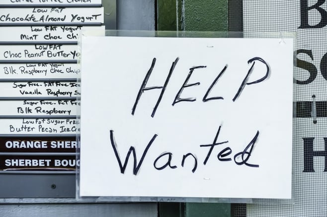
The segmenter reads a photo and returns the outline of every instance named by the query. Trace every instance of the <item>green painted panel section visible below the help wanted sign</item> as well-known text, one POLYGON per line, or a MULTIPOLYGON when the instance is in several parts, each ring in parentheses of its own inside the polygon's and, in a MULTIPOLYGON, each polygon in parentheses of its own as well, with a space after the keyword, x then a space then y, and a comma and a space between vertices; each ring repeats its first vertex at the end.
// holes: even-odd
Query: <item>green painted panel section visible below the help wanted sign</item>
POLYGON ((186 203, 185 217, 230 217, 230 204, 186 203))

